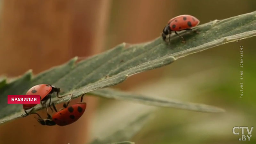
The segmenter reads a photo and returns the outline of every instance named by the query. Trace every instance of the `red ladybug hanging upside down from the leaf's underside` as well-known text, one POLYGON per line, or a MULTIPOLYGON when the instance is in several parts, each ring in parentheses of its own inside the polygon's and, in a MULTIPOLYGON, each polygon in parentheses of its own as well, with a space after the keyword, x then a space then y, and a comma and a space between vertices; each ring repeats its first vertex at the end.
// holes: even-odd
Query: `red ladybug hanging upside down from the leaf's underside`
MULTIPOLYGON (((81 98, 81 101, 83 100, 83 96, 81 98)), ((38 115, 37 121, 42 125, 52 126, 57 124, 60 126, 65 126, 68 124, 72 124, 76 122, 84 114, 84 111, 86 109, 86 103, 80 102, 69 107, 68 107, 68 104, 69 104, 69 101, 67 103, 64 103, 63 104, 64 108, 58 111, 57 113, 53 114, 53 116, 47 113, 48 117, 45 119, 43 119, 37 113, 34 113, 34 114, 38 115)), ((55 106, 53 105, 53 107, 55 106)))

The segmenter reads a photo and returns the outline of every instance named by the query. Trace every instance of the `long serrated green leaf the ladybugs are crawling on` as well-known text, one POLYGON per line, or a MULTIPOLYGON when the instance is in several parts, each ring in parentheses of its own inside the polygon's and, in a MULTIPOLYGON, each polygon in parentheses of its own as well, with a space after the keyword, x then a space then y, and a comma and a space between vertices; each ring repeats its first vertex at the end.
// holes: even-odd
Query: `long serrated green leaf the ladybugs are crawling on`
MULTIPOLYGON (((180 32, 186 40, 181 43, 178 36, 172 36, 171 44, 159 37, 152 42, 127 46, 123 43, 115 48, 75 64, 76 59, 52 68, 32 78, 31 71, 10 83, 1 81, 0 123, 17 118, 21 105, 7 104, 7 95, 21 95, 36 84, 53 84, 61 88, 60 103, 77 98, 84 93, 106 88, 123 82, 128 76, 146 70, 159 68, 189 54, 200 52, 220 44, 226 44, 256 35, 256 12, 225 20, 214 20, 196 27, 200 34, 180 32)), ((36 109, 41 109, 38 105, 36 109)))

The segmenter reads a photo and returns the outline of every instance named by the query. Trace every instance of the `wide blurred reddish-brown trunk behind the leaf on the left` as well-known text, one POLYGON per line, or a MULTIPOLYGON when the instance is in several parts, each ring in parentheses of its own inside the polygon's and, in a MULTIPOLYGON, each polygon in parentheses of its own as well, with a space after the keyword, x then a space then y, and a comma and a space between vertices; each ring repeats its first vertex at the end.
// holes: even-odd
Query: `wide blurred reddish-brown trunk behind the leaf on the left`
MULTIPOLYGON (((74 56, 91 56, 103 51, 110 2, 4 0, 0 75, 18 76, 28 69, 37 74, 74 56)), ((39 125, 33 116, 20 118, 0 126, 0 143, 85 143, 96 99, 84 101, 90 104, 86 116, 77 123, 50 127, 39 125)))

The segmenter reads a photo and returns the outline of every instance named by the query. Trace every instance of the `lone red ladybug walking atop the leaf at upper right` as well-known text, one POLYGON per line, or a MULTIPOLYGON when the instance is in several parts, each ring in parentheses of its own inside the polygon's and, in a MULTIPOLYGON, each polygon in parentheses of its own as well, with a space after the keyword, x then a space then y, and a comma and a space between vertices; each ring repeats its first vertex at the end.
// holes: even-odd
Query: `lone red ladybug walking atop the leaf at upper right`
MULTIPOLYGON (((191 30, 198 33, 196 30, 191 29, 199 24, 199 20, 192 16, 192 15, 179 15, 177 17, 172 18, 168 21, 168 24, 164 27, 162 37, 163 40, 166 41, 166 35, 169 34, 169 41, 170 35, 172 31, 175 32, 176 35, 180 36, 177 31, 181 30, 191 30)), ((180 38, 185 42, 185 39, 180 36, 180 38)))

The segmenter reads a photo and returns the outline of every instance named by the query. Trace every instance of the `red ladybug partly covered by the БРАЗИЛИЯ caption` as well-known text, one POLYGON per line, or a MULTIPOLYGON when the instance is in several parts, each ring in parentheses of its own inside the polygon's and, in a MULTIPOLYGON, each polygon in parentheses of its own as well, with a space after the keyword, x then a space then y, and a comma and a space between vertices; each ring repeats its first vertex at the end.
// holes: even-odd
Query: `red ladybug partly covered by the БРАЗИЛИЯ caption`
MULTIPOLYGON (((42 105, 45 105, 46 111, 48 113, 46 101, 48 99, 50 99, 49 106, 51 108, 51 98, 52 98, 51 94, 53 92, 57 92, 57 97, 61 98, 61 97, 59 97, 60 88, 57 88, 57 87, 55 87, 53 85, 50 85, 50 84, 38 84, 38 85, 35 85, 35 86, 31 87, 28 90, 26 95, 39 95, 40 96, 40 102, 41 102, 42 105)), ((26 110, 30 109, 30 108, 33 108, 36 105, 37 104, 22 104, 23 109, 24 109, 24 111, 25 111, 25 113, 27 115, 28 115, 28 112, 26 110)))

